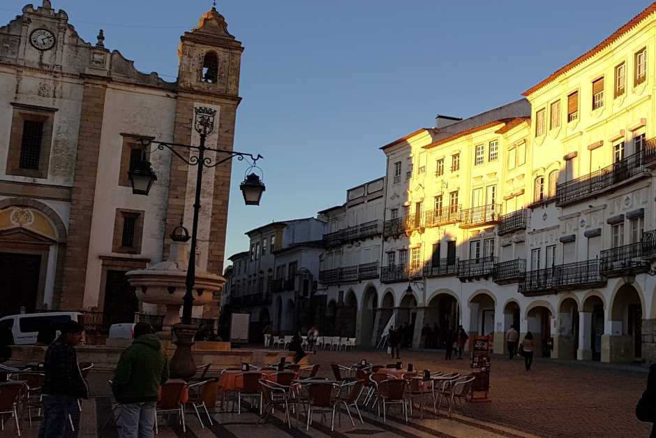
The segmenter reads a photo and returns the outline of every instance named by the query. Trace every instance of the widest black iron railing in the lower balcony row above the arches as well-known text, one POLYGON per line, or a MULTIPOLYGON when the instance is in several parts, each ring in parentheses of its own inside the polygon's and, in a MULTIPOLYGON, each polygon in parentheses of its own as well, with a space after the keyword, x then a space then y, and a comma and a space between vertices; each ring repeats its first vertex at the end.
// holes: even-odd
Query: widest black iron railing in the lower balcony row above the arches
POLYGON ((599 261, 578 261, 526 272, 518 291, 524 295, 543 295, 558 290, 601 287, 606 279, 599 272, 599 261))

